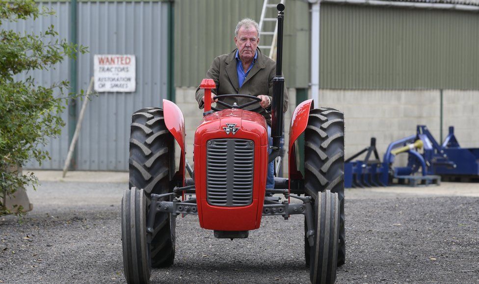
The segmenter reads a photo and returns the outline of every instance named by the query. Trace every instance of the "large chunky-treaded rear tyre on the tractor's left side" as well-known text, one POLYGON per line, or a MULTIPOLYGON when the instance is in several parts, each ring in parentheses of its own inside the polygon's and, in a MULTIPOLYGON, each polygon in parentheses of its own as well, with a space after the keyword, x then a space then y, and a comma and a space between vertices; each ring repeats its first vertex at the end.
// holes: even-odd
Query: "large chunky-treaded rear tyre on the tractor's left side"
MULTIPOLYGON (((143 188, 150 205, 150 194, 172 191, 174 138, 166 128, 163 110, 143 108, 132 117, 130 136, 130 188, 143 188)), ((175 258, 175 223, 171 214, 155 218, 151 241, 152 267, 173 264, 175 258)))

